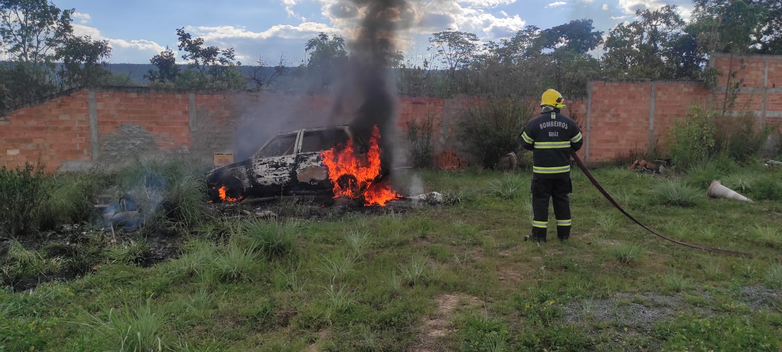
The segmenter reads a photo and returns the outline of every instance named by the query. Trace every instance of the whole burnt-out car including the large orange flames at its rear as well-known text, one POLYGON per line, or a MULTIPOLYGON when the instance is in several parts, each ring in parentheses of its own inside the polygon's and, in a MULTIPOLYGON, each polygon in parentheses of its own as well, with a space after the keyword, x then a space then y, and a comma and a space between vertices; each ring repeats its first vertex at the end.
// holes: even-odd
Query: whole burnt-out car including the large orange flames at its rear
POLYGON ((348 125, 280 133, 246 160, 206 174, 213 201, 248 197, 329 195, 384 205, 400 198, 382 181, 375 127, 369 141, 348 125))

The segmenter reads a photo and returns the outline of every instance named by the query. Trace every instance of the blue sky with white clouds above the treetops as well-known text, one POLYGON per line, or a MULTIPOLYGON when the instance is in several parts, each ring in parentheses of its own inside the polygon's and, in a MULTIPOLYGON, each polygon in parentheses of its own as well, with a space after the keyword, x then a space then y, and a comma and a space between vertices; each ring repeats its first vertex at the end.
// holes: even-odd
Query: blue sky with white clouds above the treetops
MULTIPOLYGON (((242 64, 260 56, 276 63, 284 56, 296 65, 304 43, 318 32, 349 35, 357 11, 353 0, 53 0, 61 9, 76 9, 77 34, 106 39, 113 48, 110 63, 149 63, 166 45, 177 51, 176 29, 202 37, 207 45, 235 48, 242 64)), ((512 36, 534 24, 549 28, 589 18, 608 32, 633 20, 635 9, 680 5, 685 18, 691 0, 407 0, 414 20, 399 32, 399 49, 414 62, 426 56, 427 38, 447 28, 478 34, 482 41, 512 36)), ((360 11, 360 10, 359 10, 360 11)), ((178 53, 178 57, 181 53, 178 53)))

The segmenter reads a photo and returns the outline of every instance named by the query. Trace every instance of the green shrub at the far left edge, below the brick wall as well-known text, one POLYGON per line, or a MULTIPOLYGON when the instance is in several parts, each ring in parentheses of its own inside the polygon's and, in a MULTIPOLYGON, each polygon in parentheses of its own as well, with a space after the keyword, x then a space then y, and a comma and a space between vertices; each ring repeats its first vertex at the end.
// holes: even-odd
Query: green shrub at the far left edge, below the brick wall
POLYGON ((0 168, 0 231, 6 235, 25 235, 38 220, 38 204, 45 203, 45 177, 42 167, 30 163, 14 170, 0 168))

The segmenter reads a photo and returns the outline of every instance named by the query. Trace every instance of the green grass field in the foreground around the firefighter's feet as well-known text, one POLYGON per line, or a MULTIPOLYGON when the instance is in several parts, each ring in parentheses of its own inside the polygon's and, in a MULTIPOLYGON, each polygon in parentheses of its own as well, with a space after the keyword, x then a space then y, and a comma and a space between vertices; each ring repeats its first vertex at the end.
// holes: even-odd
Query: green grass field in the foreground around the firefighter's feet
MULTIPOLYGON (((529 174, 418 174, 425 191, 450 202, 218 219, 182 230, 172 260, 138 264, 149 250, 139 238, 89 254, 87 275, 21 292, 4 286, 0 351, 782 349, 782 171, 594 171, 647 226, 752 258, 644 232, 580 171, 571 239, 556 239, 552 213, 540 246, 523 241, 529 174), (708 199, 717 177, 755 203, 708 199)), ((106 241, 99 232, 84 236, 106 241)), ((5 272, 56 271, 68 260, 10 246, 5 272)))

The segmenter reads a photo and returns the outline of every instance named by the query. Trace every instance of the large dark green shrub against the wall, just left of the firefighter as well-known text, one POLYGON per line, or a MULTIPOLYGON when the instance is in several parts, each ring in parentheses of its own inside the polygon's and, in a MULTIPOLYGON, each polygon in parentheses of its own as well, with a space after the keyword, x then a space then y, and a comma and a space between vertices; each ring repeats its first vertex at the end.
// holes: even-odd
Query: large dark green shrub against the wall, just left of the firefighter
POLYGON ((468 110, 462 123, 463 140, 483 167, 494 168, 509 152, 522 155, 518 135, 533 110, 520 99, 499 99, 480 103, 468 110))

